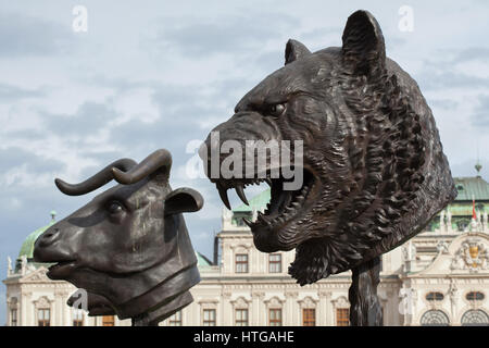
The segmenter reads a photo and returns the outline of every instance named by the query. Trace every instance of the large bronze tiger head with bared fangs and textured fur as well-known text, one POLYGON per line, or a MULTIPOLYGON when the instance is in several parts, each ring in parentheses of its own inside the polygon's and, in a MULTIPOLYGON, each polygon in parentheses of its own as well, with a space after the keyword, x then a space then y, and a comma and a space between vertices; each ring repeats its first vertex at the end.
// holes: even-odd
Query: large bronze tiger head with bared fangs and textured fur
MULTIPOLYGON (((199 153, 228 207, 229 188, 247 202, 246 185, 271 185, 267 209, 246 222, 259 250, 296 248, 289 273, 301 285, 403 244, 456 196, 431 111, 416 82, 386 57, 380 26, 366 11, 348 18, 342 47, 311 52, 289 40, 285 66, 238 102, 199 153), (240 144, 244 153, 250 140, 287 140, 290 149, 302 141, 302 160, 294 164, 302 185, 284 189, 290 178, 283 167, 271 175, 272 151, 265 167, 251 154, 251 176, 211 175, 212 165, 229 160, 226 141, 240 144)), ((234 170, 247 167, 249 154, 234 170)))

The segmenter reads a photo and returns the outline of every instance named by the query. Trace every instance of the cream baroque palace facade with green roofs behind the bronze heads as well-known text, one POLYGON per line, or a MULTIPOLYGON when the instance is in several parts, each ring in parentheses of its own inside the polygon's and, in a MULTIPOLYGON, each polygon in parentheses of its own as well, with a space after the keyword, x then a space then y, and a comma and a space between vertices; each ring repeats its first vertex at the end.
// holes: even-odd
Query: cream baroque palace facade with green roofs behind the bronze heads
MULTIPOLYGON (((489 184, 478 175, 455 183, 456 200, 425 232, 383 256, 385 325, 489 325, 489 184)), ((265 190, 250 206, 223 211, 213 262, 198 253, 202 279, 191 289, 193 302, 160 325, 349 325, 350 272, 301 287, 287 274, 293 251, 254 248, 241 217, 255 219, 268 200, 265 190)), ((130 325, 66 306, 76 288, 50 281, 46 264, 32 260, 48 226, 27 237, 13 266, 9 260, 7 325, 130 325)))

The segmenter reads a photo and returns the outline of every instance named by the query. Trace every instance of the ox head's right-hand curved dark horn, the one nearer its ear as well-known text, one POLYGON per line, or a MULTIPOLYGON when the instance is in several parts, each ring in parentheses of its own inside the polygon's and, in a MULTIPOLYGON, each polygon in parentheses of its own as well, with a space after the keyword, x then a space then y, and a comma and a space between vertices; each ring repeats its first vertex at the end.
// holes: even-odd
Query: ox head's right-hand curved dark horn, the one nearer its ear
POLYGON ((160 149, 143 159, 138 165, 130 169, 130 171, 124 173, 121 170, 114 167, 112 173, 114 178, 120 184, 129 185, 139 182, 148 175, 156 172, 162 166, 165 166, 166 174, 170 176, 170 170, 172 167, 172 154, 168 150, 160 149))

